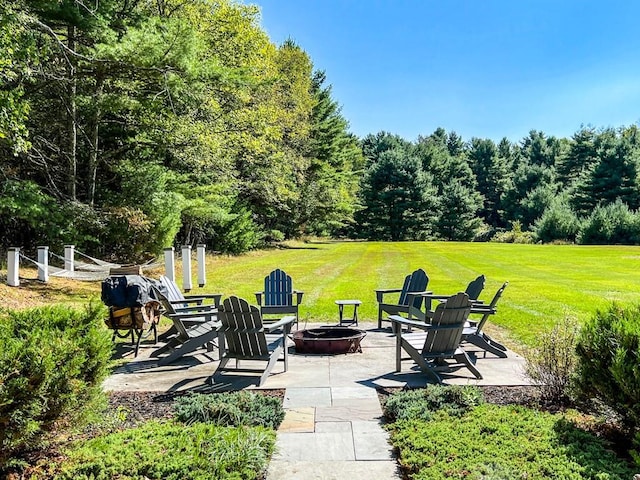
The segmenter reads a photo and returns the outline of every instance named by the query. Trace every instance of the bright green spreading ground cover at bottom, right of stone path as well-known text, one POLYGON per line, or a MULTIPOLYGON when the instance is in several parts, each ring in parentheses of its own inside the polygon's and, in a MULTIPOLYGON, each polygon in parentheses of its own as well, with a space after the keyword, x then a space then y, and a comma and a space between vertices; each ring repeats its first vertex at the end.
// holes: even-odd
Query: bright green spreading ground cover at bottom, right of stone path
POLYGON ((628 480, 634 472, 561 415, 483 404, 459 418, 399 422, 391 441, 409 478, 628 480))

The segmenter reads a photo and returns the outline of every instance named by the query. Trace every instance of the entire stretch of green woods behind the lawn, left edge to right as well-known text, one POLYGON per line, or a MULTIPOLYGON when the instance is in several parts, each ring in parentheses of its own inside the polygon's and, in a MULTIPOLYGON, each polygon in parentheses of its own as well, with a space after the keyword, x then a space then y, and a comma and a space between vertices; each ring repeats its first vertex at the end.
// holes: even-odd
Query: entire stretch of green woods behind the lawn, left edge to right
POLYGON ((0 250, 305 236, 640 243, 640 131, 357 138, 234 0, 0 0, 0 250))

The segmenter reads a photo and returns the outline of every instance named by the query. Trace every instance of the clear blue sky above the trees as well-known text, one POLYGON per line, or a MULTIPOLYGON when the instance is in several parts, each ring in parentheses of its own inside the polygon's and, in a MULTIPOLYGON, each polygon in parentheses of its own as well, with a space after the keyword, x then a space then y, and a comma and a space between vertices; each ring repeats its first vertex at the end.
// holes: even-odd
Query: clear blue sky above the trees
POLYGON ((247 3, 273 42, 293 39, 326 71, 358 136, 519 141, 640 121, 635 0, 247 3))

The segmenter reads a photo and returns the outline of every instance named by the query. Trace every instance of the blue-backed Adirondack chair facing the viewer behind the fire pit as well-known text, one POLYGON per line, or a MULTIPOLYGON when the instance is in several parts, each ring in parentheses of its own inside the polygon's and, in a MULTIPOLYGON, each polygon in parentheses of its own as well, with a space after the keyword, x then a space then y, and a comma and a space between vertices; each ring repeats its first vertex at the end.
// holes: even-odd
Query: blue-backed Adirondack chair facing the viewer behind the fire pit
POLYGON ((304 292, 293 289, 291 277, 278 268, 264 277, 264 290, 256 292, 256 301, 263 316, 290 313, 295 315, 297 326, 298 305, 303 295, 304 292))

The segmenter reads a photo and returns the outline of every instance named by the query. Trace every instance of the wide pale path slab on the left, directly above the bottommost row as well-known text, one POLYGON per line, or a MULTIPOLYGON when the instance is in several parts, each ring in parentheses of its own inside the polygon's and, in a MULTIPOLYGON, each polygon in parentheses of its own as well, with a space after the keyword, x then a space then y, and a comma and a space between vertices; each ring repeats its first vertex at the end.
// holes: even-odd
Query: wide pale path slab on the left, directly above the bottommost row
POLYGON ((353 435, 348 432, 278 433, 274 460, 355 460, 353 435))

